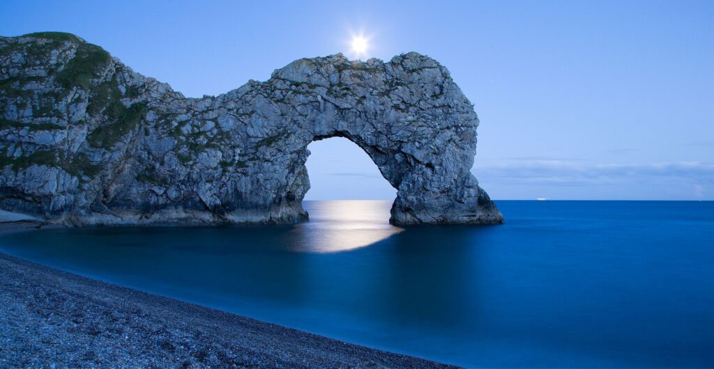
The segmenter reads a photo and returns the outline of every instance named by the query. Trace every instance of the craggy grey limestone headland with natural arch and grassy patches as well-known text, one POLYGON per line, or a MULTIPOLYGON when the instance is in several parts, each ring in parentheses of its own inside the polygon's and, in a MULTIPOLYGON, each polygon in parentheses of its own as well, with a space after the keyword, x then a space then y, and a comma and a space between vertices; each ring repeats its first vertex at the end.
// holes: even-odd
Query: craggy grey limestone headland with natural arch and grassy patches
POLYGON ((310 142, 346 137, 398 189, 395 224, 503 222, 469 172, 478 119, 418 53, 306 58, 184 98, 66 33, 0 37, 0 207, 64 224, 306 219, 310 142))

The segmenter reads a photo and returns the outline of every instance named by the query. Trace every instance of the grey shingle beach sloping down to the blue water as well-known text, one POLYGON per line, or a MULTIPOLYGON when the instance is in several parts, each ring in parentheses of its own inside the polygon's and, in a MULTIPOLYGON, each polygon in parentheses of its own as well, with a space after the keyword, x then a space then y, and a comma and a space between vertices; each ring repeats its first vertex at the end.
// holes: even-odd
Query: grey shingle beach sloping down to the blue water
POLYGON ((0 368, 49 367, 449 368, 0 253, 0 368))

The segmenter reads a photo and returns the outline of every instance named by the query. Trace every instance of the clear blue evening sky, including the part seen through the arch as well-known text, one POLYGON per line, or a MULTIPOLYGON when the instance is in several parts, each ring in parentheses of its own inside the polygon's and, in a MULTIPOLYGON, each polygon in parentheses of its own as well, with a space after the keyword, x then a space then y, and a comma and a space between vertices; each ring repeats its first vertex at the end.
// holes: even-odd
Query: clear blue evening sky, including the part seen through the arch
MULTIPOLYGON (((4 0, 0 34, 76 33, 198 97, 362 32, 451 71, 495 199, 714 199, 714 1, 99 3, 4 0)), ((307 199, 393 198, 351 142, 309 148, 307 199)))

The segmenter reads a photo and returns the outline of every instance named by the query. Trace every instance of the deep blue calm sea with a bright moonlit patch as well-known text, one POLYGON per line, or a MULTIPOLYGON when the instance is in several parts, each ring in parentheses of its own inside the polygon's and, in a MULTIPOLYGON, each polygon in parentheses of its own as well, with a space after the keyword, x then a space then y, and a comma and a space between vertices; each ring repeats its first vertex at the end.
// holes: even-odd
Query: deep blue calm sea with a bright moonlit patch
POLYGON ((467 367, 714 367, 714 202, 499 201, 506 224, 51 229, 0 250, 76 274, 467 367))

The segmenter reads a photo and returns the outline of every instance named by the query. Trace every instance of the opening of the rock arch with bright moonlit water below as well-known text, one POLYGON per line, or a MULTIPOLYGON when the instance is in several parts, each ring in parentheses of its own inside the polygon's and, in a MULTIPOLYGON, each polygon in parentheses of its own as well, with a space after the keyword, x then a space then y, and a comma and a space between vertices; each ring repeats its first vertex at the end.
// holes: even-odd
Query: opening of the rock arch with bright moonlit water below
POLYGON ((311 240, 308 251, 335 252, 368 246, 403 229, 389 224, 396 189, 354 142, 331 137, 311 142, 306 167, 310 189, 303 200, 311 240))

